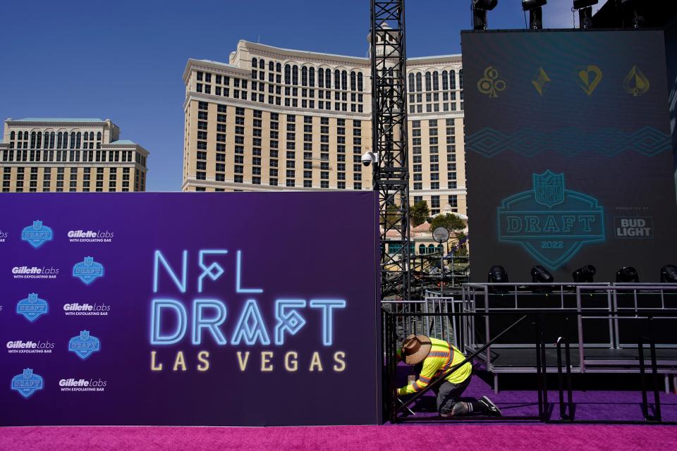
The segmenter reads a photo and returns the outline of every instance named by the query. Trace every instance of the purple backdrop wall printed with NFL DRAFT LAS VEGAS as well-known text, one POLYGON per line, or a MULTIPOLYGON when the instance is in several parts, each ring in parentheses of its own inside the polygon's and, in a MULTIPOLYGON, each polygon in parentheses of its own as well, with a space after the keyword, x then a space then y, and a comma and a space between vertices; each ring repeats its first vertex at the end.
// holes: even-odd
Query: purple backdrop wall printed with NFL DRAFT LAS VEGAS
POLYGON ((378 423, 375 202, 3 194, 0 424, 378 423))

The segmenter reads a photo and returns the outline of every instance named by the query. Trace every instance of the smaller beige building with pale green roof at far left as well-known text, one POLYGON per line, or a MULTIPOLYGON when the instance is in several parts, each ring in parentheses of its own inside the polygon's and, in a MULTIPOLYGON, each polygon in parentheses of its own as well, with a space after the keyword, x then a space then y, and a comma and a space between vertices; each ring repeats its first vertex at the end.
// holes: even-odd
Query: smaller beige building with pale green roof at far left
POLYGON ((2 192, 145 191, 148 151, 109 119, 5 121, 2 192))

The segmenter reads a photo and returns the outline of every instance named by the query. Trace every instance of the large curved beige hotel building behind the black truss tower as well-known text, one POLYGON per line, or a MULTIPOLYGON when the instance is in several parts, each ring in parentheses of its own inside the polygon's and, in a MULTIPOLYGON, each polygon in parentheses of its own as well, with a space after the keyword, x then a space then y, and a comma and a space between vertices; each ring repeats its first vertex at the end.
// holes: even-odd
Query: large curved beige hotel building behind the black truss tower
MULTIPOLYGON (((466 213, 461 55, 409 58, 410 200, 466 213)), ((371 190, 370 58, 238 42, 190 59, 184 191, 371 190)))

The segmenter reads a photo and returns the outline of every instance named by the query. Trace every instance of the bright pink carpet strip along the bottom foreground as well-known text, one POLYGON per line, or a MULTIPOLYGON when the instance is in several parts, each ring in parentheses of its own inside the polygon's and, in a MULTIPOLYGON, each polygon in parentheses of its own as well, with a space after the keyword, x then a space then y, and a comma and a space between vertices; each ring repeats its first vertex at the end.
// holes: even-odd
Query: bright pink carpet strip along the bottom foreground
POLYGON ((673 426, 428 425, 295 428, 0 428, 2 451, 677 449, 673 426), (459 444, 463 444, 461 448, 459 444))

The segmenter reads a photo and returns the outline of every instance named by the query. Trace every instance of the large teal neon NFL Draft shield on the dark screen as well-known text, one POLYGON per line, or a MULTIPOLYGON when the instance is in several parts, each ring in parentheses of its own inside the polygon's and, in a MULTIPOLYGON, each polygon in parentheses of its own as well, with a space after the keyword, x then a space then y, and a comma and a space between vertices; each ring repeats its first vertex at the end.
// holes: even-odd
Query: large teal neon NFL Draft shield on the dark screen
POLYGON ((604 242, 604 207, 564 187, 564 174, 533 174, 533 190, 514 194, 497 211, 499 242, 521 245, 551 269, 585 243, 604 242))

